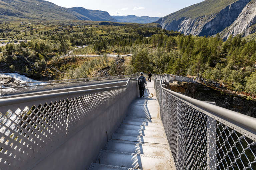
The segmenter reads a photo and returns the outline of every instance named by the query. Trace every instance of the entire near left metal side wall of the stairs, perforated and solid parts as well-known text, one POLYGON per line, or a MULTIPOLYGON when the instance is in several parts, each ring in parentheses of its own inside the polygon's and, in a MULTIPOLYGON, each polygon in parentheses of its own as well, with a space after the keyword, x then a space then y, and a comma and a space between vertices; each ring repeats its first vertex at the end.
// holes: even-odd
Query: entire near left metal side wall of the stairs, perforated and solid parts
POLYGON ((0 99, 0 170, 88 169, 137 97, 126 85, 0 99))

